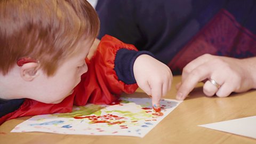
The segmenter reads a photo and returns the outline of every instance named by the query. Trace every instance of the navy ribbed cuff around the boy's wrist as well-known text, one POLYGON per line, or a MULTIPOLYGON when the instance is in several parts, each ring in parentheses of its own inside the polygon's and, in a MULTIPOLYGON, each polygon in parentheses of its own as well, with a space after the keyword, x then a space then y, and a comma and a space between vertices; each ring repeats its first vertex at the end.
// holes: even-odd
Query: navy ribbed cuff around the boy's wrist
POLYGON ((151 57, 154 57, 152 53, 148 51, 134 51, 127 49, 120 49, 117 51, 115 58, 115 68, 116 75, 118 79, 125 84, 134 84, 136 83, 134 74, 133 74, 133 65, 135 60, 141 54, 148 54, 151 57))

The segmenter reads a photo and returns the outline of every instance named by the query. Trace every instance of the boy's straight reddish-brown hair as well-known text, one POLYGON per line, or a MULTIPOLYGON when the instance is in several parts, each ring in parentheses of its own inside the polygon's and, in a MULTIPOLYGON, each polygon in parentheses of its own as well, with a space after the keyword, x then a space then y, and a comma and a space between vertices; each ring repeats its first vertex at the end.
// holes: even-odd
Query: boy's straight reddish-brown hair
POLYGON ((50 76, 77 52, 82 38, 99 33, 99 18, 85 0, 1 0, 0 73, 31 57, 50 76))

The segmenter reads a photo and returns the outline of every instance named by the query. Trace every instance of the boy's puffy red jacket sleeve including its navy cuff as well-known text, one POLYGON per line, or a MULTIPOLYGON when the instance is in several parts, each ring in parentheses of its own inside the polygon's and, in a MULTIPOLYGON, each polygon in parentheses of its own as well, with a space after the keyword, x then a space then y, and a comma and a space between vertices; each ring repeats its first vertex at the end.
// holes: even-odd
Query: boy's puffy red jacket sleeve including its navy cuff
POLYGON ((86 60, 88 71, 76 86, 75 105, 109 104, 122 92, 133 93, 138 88, 133 63, 140 54, 150 53, 109 35, 102 37, 92 59, 86 60))

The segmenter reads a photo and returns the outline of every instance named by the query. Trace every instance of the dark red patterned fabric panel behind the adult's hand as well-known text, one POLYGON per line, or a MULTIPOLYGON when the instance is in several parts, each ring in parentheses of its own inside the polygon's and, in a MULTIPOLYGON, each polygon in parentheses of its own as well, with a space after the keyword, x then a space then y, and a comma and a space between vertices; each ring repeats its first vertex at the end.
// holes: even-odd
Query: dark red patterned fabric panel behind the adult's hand
POLYGON ((256 36, 240 25, 228 11, 222 9, 175 55, 169 67, 182 71, 191 60, 209 53, 235 58, 256 55, 256 36))

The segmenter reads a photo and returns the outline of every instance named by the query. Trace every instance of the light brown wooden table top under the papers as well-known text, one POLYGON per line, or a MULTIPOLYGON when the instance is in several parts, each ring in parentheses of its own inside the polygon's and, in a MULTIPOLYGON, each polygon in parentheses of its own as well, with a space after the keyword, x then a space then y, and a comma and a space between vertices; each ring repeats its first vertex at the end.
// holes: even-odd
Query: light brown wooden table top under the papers
MULTIPOLYGON (((175 76, 172 90, 165 98, 175 99, 175 84, 181 77, 175 76)), ((132 96, 147 97, 138 90, 132 96)), ((42 132, 11 133, 19 123, 29 117, 21 117, 0 126, 0 143, 256 143, 256 139, 215 131, 197 125, 226 121, 256 115, 256 91, 232 94, 227 98, 207 98, 202 84, 190 93, 163 121, 144 138, 121 136, 65 135, 42 132)))

